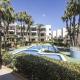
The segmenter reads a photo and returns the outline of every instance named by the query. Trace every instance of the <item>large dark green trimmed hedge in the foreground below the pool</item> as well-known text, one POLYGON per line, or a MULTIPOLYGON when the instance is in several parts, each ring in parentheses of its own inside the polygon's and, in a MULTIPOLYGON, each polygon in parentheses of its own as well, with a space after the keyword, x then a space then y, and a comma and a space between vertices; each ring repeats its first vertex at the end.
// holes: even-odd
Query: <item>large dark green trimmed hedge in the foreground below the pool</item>
POLYGON ((20 54, 14 66, 30 80, 80 80, 80 65, 20 54))

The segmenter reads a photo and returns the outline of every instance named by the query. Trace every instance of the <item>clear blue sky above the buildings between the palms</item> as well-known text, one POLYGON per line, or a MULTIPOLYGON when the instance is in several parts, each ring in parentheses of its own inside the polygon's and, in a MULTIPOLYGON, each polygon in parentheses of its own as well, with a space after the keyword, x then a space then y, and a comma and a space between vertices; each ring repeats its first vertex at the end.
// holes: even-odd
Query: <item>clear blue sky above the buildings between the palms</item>
POLYGON ((65 0, 12 0, 16 12, 26 11, 35 23, 52 25, 52 30, 64 27, 65 0))

